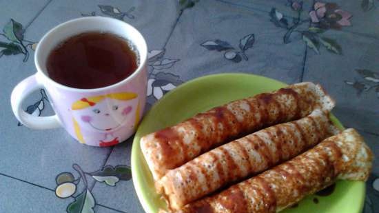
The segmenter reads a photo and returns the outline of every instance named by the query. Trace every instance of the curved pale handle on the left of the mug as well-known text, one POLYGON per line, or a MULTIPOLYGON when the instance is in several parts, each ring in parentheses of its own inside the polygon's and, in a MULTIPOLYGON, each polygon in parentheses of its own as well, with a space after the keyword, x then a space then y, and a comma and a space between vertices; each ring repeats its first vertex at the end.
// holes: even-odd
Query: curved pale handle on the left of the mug
POLYGON ((12 105, 12 111, 16 118, 28 128, 43 130, 61 127, 61 121, 57 114, 52 116, 33 116, 26 113, 21 108, 21 103, 35 90, 43 88, 43 85, 36 79, 36 75, 23 79, 16 85, 10 96, 10 104, 12 105))

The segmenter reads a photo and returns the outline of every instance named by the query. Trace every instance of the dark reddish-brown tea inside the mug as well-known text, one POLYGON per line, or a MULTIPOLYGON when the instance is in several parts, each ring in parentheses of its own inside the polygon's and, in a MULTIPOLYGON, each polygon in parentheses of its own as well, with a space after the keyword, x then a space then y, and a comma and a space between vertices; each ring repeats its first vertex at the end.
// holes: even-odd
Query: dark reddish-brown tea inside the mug
POLYGON ((70 88, 103 88, 129 77, 138 67, 131 43, 108 32, 85 32, 50 52, 49 77, 70 88))

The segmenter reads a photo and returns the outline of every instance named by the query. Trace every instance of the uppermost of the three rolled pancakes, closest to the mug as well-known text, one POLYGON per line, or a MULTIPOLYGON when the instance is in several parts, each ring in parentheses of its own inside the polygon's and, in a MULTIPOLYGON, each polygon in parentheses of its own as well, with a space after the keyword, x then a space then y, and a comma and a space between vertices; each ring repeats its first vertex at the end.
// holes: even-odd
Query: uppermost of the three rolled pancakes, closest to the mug
POLYGON ((154 181, 212 148, 261 128, 300 119, 334 101, 320 85, 296 83, 276 92, 232 101, 141 138, 154 181))

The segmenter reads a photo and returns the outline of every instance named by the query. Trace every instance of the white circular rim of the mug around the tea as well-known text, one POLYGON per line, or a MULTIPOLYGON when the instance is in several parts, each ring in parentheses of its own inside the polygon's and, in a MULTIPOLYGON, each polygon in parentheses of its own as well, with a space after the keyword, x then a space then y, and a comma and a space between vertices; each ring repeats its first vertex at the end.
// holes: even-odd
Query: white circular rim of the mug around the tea
MULTIPOLYGON (((114 22, 119 22, 119 23, 122 23, 123 25, 125 26, 128 26, 129 28, 132 28, 133 30, 136 31, 136 33, 138 34, 139 37, 141 37, 142 39, 142 45, 143 47, 145 48, 146 50, 146 53, 145 55, 141 55, 141 52, 139 52, 139 66, 138 68, 136 68, 136 70, 130 75, 128 76, 126 79, 123 79, 122 81, 119 81, 117 83, 114 83, 112 85, 107 85, 103 88, 91 88, 91 89, 83 89, 83 88, 71 88, 67 85, 63 85, 61 83, 58 83, 57 81, 54 81, 52 80, 48 74, 46 74, 45 72, 42 71, 42 68, 39 64, 39 61, 37 61, 38 59, 38 56, 39 56, 39 52, 41 52, 41 50, 39 50, 39 47, 41 45, 37 45, 37 48, 35 50, 35 54, 34 54, 34 64, 36 65, 36 68, 37 68, 37 74, 41 74, 42 77, 44 77, 45 79, 48 79, 48 81, 51 81, 55 86, 59 87, 59 88, 62 88, 62 89, 65 89, 65 90, 75 90, 75 91, 78 91, 78 92, 100 92, 101 90, 107 90, 107 89, 112 89, 112 88, 116 88, 118 87, 119 85, 123 85, 124 83, 127 83, 127 81, 131 81, 132 79, 134 79, 134 77, 136 77, 136 75, 139 74, 139 72, 141 72, 145 66, 145 63, 147 61, 147 43, 145 41, 145 38, 143 37, 143 35, 141 34, 141 32, 139 32, 139 30, 137 30, 136 28, 134 28, 133 26, 131 26, 129 23, 126 23, 124 21, 121 21, 121 20, 118 20, 118 19, 113 19, 113 18, 110 18, 110 17, 81 17, 81 18, 77 18, 77 19, 71 19, 70 21, 65 21, 63 23, 60 23, 59 25, 55 26, 54 28, 50 29, 48 32, 46 32, 43 37, 41 38, 41 40, 39 41, 39 43, 43 43, 43 41, 45 39, 47 39, 48 37, 50 37, 50 34, 52 34, 52 32, 56 31, 56 30, 59 30, 59 28, 63 28, 67 25, 69 25, 70 23, 72 22, 76 22, 76 21, 81 21, 83 19, 107 19, 109 21, 114 21, 114 22)), ((85 32, 85 31, 83 31, 85 32)), ((79 32, 80 33, 80 32, 79 32)), ((67 38, 66 38, 67 39, 67 38)), ((140 48, 137 47, 137 50, 139 50, 140 48)))

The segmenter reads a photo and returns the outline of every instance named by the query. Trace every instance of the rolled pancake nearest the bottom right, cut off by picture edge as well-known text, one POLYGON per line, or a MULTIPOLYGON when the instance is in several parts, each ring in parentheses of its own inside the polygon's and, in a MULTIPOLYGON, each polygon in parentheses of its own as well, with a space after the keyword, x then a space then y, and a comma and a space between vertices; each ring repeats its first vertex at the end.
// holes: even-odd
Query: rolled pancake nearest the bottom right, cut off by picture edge
POLYGON ((176 212, 279 212, 337 179, 367 181, 372 161, 362 136, 348 129, 272 170, 176 212))

